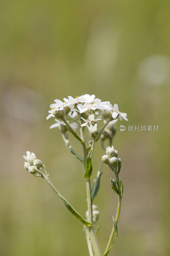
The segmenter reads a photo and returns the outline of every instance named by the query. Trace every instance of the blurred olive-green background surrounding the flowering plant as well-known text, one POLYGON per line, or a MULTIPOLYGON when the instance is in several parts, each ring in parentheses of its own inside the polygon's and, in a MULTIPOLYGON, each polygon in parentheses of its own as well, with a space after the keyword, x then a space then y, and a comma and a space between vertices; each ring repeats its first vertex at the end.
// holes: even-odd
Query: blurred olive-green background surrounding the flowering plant
MULTIPOLYGON (((0 8, 2 256, 87 256, 81 222, 42 179, 23 168, 26 150, 48 167, 56 188, 83 215, 82 166, 46 121, 54 99, 84 93, 118 103, 114 147, 124 184, 117 256, 170 255, 169 1, 2 1, 0 8), (158 132, 120 132, 119 125, 159 125, 158 132)), ((101 123, 100 123, 101 124, 101 123)), ((74 148, 80 145, 70 136, 74 148)), ((96 144, 93 170, 103 151, 96 144)), ((105 165, 98 239, 102 252, 117 196, 105 165)))

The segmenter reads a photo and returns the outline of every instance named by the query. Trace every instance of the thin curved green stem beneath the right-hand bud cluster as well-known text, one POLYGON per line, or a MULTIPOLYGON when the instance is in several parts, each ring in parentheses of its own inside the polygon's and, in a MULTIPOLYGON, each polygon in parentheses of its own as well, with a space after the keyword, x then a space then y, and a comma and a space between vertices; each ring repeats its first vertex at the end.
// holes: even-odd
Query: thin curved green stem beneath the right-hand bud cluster
MULTIPOLYGON (((116 223, 118 222, 119 220, 119 215, 120 215, 120 210, 121 210, 121 203, 122 203, 122 195, 121 195, 121 186, 120 186, 120 180, 119 180, 119 175, 117 174, 117 172, 115 172, 115 178, 116 178, 116 182, 117 182, 117 188, 120 192, 120 195, 118 195, 118 207, 117 207, 117 212, 116 212, 116 217, 115 217, 115 221, 116 223)), ((114 236, 114 233, 115 233, 115 226, 113 225, 113 228, 112 228, 112 231, 111 231, 111 234, 110 234, 110 237, 109 237, 109 241, 107 243, 107 247, 106 247, 106 250, 105 250, 105 253, 108 251, 111 243, 112 243, 112 239, 113 239, 113 236, 114 236)))

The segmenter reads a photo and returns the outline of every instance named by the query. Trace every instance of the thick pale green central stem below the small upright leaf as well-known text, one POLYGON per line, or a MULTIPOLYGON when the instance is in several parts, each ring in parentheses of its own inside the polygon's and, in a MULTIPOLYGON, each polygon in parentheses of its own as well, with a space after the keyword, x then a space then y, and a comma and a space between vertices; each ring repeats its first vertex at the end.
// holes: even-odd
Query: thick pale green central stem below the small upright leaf
POLYGON ((89 234, 90 239, 92 242, 93 250, 95 253, 95 256, 101 256, 99 244, 97 242, 97 237, 94 229, 94 222, 93 222, 93 215, 92 215, 92 196, 91 196, 91 185, 90 185, 90 179, 86 179, 86 190, 87 190, 87 206, 88 206, 88 213, 89 213, 89 222, 92 224, 91 227, 89 227, 89 234))

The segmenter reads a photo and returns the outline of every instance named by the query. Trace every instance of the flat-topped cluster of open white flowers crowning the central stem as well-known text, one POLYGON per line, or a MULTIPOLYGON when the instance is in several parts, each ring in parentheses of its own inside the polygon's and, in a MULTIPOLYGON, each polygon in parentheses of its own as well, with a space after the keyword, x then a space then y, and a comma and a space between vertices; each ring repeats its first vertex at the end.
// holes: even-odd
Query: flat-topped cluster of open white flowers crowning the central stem
MULTIPOLYGON (((76 121, 70 124, 74 131, 76 131, 79 126, 79 121, 77 118, 78 116, 80 116, 82 120, 85 121, 85 123, 81 124, 81 126, 87 126, 90 134, 98 133, 96 122, 101 120, 102 116, 105 122, 108 118, 113 118, 115 121, 117 121, 118 118, 120 120, 124 119, 128 121, 127 114, 120 112, 117 104, 112 106, 109 101, 101 101, 100 99, 95 98, 94 94, 84 94, 81 96, 76 96, 76 98, 68 96, 68 98, 63 98, 63 101, 57 99, 54 101, 55 103, 50 105, 51 109, 48 111, 50 114, 47 116, 47 119, 50 117, 63 119, 65 115, 68 115, 69 118, 76 121), (94 114, 98 113, 96 110, 100 110, 102 114, 98 118, 94 117, 94 114)), ((57 119, 55 119, 55 121, 56 123, 52 124, 50 129, 54 127, 61 128, 61 125, 65 125, 63 121, 59 121, 57 119)), ((91 137, 94 136, 92 135, 91 137)))

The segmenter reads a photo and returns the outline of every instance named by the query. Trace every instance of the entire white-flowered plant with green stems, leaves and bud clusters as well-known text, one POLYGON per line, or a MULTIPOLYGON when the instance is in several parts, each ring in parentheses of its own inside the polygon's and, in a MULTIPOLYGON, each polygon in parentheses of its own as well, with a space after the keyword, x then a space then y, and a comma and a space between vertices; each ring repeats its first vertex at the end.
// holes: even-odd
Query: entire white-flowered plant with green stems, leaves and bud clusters
POLYGON ((66 148, 82 163, 84 170, 84 177, 86 183, 87 192, 87 212, 85 218, 82 217, 80 213, 59 193, 59 191, 54 187, 49 178, 49 173, 46 166, 41 160, 37 159, 34 153, 26 152, 26 156, 23 156, 26 160, 24 168, 32 173, 35 177, 41 177, 44 179, 57 196, 63 201, 68 210, 78 218, 84 225, 85 236, 87 241, 87 246, 90 256, 106 256, 112 246, 115 244, 118 234, 117 222, 119 219, 119 214, 121 210, 122 194, 123 194, 123 184, 119 178, 119 173, 121 170, 121 159, 118 158, 118 151, 112 146, 112 141, 115 136, 115 123, 118 119, 126 120, 127 114, 119 111, 118 105, 112 104, 109 101, 101 101, 95 98, 95 95, 85 94, 82 96, 76 96, 73 98, 68 96, 61 100, 54 100, 55 103, 50 105, 49 115, 55 118, 55 124, 50 126, 50 129, 58 127, 64 144, 66 148), (101 112, 99 115, 98 112, 101 112), (104 124, 98 129, 98 121, 103 119, 104 124), (89 132, 89 143, 85 143, 85 127, 87 126, 89 132), (77 153, 75 149, 72 148, 69 141, 68 134, 72 135, 80 142, 82 145, 83 154, 77 153), (105 151, 105 155, 102 156, 99 169, 96 173, 96 178, 94 179, 93 185, 91 187, 91 175, 92 169, 92 156, 95 150, 95 144, 100 139, 101 146, 105 151), (108 146, 105 148, 104 143, 108 141, 108 146), (112 231, 105 249, 104 254, 101 253, 99 243, 96 234, 100 228, 98 226, 95 230, 94 224, 99 219, 99 210, 96 205, 93 204, 93 200, 98 194, 100 188, 100 178, 102 174, 103 163, 107 164, 111 171, 114 173, 115 179, 110 180, 111 188, 118 196, 118 207, 115 218, 113 217, 113 227, 112 231), (115 239, 113 237, 115 234, 115 239))

